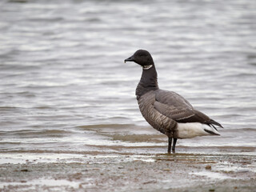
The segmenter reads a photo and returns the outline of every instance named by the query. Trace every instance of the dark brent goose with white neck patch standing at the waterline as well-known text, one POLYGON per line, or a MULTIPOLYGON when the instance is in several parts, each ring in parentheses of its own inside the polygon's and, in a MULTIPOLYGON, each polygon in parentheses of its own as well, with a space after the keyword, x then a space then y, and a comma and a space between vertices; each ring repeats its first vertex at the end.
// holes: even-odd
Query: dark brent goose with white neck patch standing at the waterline
POLYGON ((220 135, 215 127, 222 127, 220 123, 195 110, 181 95, 159 89, 158 74, 153 58, 147 50, 137 50, 130 58, 126 58, 125 62, 136 62, 142 66, 142 78, 136 88, 138 106, 150 126, 168 137, 168 154, 172 138, 172 152, 175 153, 178 138, 220 135))

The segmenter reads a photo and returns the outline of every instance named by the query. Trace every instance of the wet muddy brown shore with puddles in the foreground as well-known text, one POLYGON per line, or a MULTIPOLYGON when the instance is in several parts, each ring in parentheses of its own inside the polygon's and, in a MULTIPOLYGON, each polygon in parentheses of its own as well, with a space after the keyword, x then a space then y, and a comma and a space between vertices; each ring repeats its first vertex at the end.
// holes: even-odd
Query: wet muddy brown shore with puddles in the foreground
POLYGON ((1 191, 255 191, 256 158, 238 154, 82 154, 0 166, 1 191))

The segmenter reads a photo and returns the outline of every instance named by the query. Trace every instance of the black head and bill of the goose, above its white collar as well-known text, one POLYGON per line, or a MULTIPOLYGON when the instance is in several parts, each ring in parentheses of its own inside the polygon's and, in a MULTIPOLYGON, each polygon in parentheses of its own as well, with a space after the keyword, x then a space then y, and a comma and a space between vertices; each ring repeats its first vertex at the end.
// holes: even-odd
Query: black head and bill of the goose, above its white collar
POLYGON ((153 58, 147 50, 137 50, 130 58, 126 58, 125 62, 136 62, 140 66, 154 65, 153 58))

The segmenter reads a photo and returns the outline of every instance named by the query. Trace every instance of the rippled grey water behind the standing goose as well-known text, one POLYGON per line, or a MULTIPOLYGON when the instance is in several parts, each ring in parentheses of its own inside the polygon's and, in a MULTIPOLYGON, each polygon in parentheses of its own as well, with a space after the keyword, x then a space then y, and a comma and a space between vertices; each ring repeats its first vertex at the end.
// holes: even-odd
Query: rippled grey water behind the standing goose
POLYGON ((134 95, 149 50, 159 86, 222 123, 178 153, 256 154, 256 2, 0 2, 1 163, 164 154, 134 95))

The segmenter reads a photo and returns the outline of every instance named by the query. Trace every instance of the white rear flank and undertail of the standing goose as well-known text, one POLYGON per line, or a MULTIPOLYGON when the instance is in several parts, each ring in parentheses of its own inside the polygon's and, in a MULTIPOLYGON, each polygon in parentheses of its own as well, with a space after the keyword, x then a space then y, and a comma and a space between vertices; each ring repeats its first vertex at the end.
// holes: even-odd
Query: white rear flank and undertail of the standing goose
POLYGON ((218 131, 215 130, 211 126, 207 126, 206 124, 202 124, 200 122, 187 122, 187 123, 178 123, 178 138, 194 138, 197 136, 204 136, 204 135, 214 135, 218 134, 218 131), (209 130, 214 134, 210 134, 206 132, 209 130))

